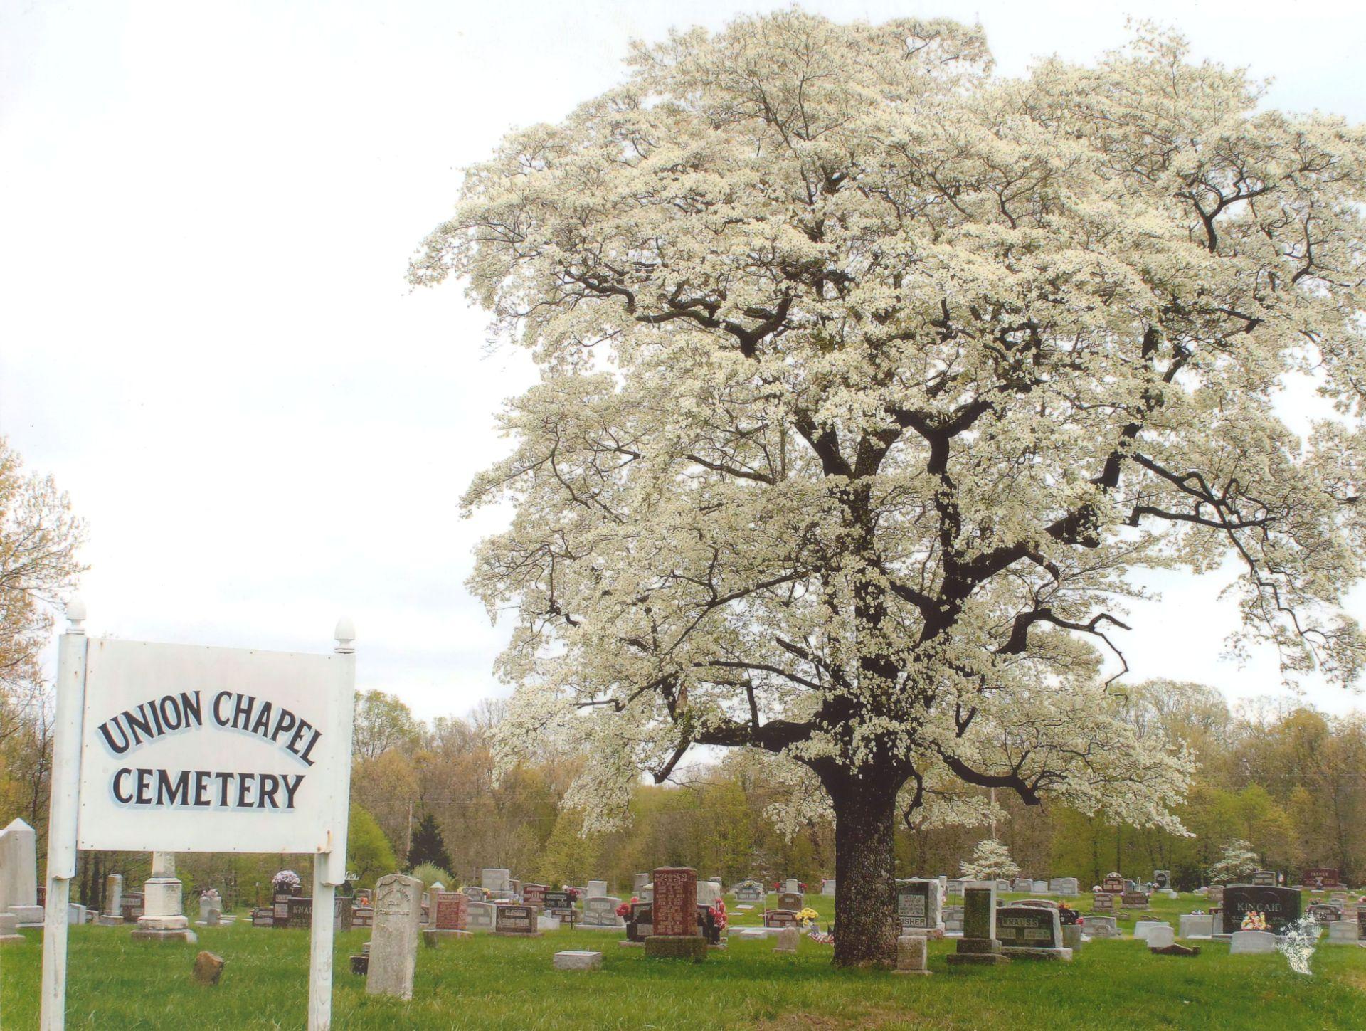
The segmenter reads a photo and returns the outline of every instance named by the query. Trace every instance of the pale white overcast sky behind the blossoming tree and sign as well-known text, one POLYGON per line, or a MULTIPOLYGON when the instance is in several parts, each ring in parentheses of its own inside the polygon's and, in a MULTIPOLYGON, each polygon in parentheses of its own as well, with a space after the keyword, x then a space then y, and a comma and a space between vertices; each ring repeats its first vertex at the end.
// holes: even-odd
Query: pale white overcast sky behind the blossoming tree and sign
MULTIPOLYGON (((777 5, 0 3, 0 433, 89 519, 92 632, 320 650, 350 612, 362 687, 423 717, 501 694, 507 627, 463 587, 499 516, 458 500, 531 370, 407 258, 460 165, 613 83, 631 37, 777 5)), ((1358 3, 807 8, 978 18, 1004 74, 1119 45, 1127 11, 1366 122, 1358 3)), ((1277 691, 1269 655, 1220 661, 1220 586, 1134 613, 1137 677, 1277 691)))

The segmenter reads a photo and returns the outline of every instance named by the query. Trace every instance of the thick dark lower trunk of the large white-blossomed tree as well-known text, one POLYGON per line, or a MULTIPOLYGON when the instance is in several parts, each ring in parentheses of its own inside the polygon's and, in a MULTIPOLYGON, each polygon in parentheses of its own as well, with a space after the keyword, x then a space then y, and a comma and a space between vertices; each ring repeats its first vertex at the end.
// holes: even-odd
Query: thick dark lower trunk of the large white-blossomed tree
POLYGON ((835 807, 835 965, 891 965, 900 923, 893 903, 895 774, 826 778, 835 807))

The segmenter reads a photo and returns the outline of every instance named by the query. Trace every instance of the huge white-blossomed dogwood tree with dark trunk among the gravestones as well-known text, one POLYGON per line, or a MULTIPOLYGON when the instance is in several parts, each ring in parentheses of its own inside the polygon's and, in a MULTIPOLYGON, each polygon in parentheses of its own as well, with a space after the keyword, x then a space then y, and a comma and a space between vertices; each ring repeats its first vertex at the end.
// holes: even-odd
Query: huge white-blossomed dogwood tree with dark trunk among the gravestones
POLYGON ((514 509, 505 743, 574 737, 590 822, 695 746, 807 772, 836 963, 887 961, 899 796, 1176 826, 1104 681, 1130 571, 1232 556, 1246 635, 1352 677, 1366 146, 1257 98, 1152 33, 1003 79, 977 29, 785 11, 471 168, 410 277, 542 367, 466 498, 514 509))

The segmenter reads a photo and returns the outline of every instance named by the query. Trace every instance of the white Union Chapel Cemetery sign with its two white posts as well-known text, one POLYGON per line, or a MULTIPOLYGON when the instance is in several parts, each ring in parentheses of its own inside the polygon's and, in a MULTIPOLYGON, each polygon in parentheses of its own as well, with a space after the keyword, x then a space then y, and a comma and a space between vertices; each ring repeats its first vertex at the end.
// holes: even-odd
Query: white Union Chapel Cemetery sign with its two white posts
POLYGON ((309 1028, 331 1026, 332 922, 346 881, 355 631, 331 654, 86 638, 67 606, 42 942, 42 1031, 66 1011, 76 849, 311 852, 309 1028))

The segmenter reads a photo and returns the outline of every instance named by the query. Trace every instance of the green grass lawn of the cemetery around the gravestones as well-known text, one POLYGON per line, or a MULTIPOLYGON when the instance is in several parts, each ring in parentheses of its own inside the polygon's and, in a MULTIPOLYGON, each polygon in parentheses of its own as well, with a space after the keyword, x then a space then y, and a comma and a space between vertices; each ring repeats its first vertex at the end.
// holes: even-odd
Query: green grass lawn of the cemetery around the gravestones
MULTIPOLYGON (((831 914, 833 900, 816 897, 831 914)), ((1078 900, 1082 909, 1089 899, 1078 900)), ((772 897, 770 897, 772 903, 772 897)), ((734 909, 734 903, 728 903, 734 909)), ((1176 914, 1199 900, 1158 900, 1176 914)), ((734 922, 754 923, 755 911, 734 922)), ((1124 920, 1132 926, 1132 918, 1124 920)), ((127 927, 71 930, 70 1028, 299 1028, 307 1015, 306 931, 198 929, 198 945, 131 941, 127 927), (195 953, 227 960, 223 980, 190 978, 195 953)), ((0 1027, 38 1024, 41 935, 0 948, 0 1027)), ((443 941, 419 946, 411 1002, 372 998, 347 956, 367 931, 339 935, 333 986, 336 1028, 1366 1028, 1366 949, 1321 945, 1314 975, 1276 956, 1229 956, 1201 942, 1194 959, 1152 956, 1141 942, 1097 941, 1070 964, 1023 963, 949 972, 952 941, 930 949, 930 978, 835 971, 829 946, 802 940, 796 956, 769 941, 732 941, 706 963, 647 960, 616 945, 611 931, 559 931, 541 938, 443 941), (555 971, 559 949, 600 949, 597 972, 555 971)))

